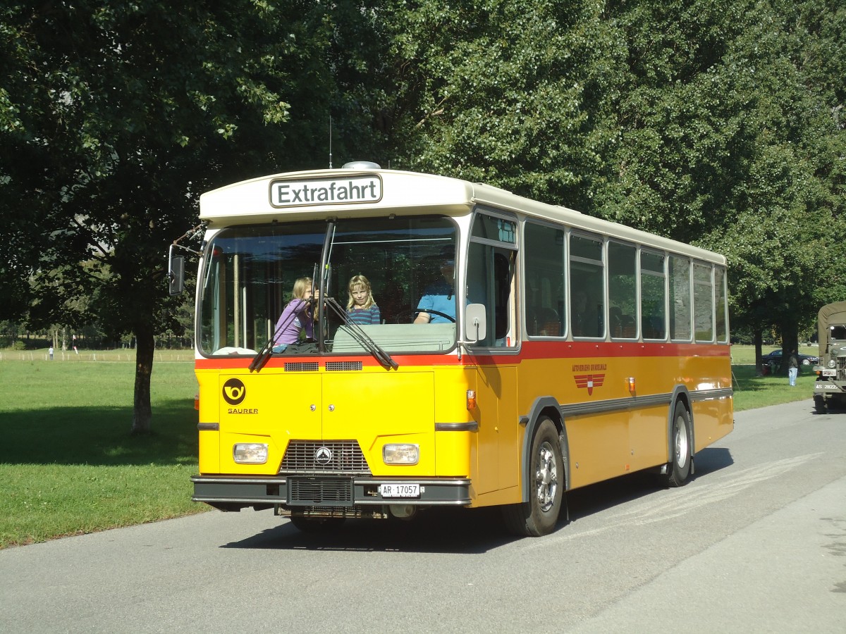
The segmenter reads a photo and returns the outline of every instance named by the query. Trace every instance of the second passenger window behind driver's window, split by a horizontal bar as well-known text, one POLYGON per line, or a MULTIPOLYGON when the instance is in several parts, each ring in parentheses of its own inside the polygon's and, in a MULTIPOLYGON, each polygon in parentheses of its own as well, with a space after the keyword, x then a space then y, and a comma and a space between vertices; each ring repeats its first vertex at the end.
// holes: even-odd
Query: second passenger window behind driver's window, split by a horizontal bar
POLYGON ((602 239, 570 234, 570 328, 576 337, 605 337, 602 239))

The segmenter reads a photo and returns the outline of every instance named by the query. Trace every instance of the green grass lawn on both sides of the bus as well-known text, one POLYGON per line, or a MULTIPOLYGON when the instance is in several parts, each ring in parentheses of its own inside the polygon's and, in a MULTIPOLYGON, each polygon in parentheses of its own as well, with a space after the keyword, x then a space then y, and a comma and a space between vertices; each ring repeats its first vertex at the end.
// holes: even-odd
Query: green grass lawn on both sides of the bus
MULTIPOLYGON (((733 346, 732 357, 735 411, 810 401, 810 367, 791 388, 786 376, 755 375, 753 347, 733 346)), ((193 358, 157 353, 148 436, 129 435, 133 361, 131 351, 57 353, 52 362, 47 350, 0 351, 0 548, 207 509, 191 501, 193 358)))

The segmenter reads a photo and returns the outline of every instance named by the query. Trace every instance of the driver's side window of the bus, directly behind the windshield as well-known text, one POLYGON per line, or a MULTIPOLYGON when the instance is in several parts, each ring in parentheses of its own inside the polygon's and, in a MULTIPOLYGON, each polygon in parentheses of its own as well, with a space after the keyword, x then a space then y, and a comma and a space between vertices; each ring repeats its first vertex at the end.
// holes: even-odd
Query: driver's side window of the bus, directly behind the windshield
POLYGON ((485 304, 487 336, 478 346, 517 344, 514 320, 514 265, 517 224, 477 213, 467 254, 467 298, 485 304))

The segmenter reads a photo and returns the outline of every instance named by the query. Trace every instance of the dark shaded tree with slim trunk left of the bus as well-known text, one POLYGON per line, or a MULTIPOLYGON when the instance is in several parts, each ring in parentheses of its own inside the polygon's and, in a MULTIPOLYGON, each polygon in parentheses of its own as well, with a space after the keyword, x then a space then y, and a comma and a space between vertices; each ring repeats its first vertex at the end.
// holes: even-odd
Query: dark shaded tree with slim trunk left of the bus
POLYGON ((305 0, 0 10, 3 292, 19 312, 30 271, 59 269, 42 301, 85 293, 114 334, 135 333, 134 433, 150 430, 153 336, 174 325, 164 254, 199 194, 326 156, 326 17, 305 0))

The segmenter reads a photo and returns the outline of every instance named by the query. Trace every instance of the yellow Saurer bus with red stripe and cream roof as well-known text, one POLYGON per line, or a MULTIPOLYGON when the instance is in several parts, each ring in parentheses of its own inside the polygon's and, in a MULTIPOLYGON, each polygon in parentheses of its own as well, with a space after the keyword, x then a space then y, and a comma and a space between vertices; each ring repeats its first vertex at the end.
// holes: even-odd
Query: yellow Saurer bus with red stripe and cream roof
POLYGON ((200 205, 194 500, 302 530, 502 506, 543 535, 570 489, 679 486, 733 429, 722 255, 363 161, 200 205))

